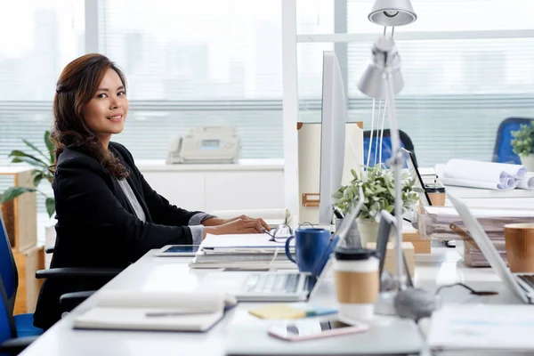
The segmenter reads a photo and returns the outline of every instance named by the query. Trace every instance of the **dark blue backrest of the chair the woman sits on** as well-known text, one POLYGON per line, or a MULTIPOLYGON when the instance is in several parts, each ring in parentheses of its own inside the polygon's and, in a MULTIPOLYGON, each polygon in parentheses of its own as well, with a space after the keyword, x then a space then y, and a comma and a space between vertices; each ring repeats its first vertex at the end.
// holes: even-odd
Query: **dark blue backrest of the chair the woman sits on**
POLYGON ((7 307, 10 314, 15 306, 15 296, 19 287, 19 274, 13 257, 11 244, 0 212, 0 278, 4 283, 7 307))

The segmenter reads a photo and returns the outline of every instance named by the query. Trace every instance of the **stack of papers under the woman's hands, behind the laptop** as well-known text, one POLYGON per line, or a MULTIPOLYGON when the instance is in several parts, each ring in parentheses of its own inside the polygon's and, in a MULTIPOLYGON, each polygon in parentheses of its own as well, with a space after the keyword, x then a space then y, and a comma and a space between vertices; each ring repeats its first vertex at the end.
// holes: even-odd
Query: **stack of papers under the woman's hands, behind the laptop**
MULTIPOLYGON (((285 240, 275 242, 268 234, 211 235, 200 244, 191 268, 295 269, 286 256, 285 240)), ((295 255, 295 240, 289 251, 295 255)))

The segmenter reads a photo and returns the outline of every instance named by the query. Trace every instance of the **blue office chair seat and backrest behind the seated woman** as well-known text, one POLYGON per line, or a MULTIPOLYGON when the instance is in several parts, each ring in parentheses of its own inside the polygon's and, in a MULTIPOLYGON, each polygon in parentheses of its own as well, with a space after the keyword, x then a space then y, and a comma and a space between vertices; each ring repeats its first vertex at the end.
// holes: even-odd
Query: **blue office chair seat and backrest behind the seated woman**
POLYGON ((7 231, 5 230, 2 214, 0 214, 0 278, 2 280, 6 298, 5 308, 10 317, 13 318, 17 335, 38 336, 43 334, 43 329, 33 326, 33 313, 12 315, 17 288, 19 287, 19 273, 17 271, 17 265, 15 264, 7 231))

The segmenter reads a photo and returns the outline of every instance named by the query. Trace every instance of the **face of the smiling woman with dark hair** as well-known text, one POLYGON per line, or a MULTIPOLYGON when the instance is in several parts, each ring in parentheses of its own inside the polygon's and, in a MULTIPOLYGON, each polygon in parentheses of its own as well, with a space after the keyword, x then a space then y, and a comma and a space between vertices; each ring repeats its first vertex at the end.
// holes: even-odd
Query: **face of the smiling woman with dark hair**
POLYGON ((111 134, 120 134, 125 127, 128 99, 125 87, 113 69, 108 69, 93 99, 83 111, 85 125, 108 146, 111 134))

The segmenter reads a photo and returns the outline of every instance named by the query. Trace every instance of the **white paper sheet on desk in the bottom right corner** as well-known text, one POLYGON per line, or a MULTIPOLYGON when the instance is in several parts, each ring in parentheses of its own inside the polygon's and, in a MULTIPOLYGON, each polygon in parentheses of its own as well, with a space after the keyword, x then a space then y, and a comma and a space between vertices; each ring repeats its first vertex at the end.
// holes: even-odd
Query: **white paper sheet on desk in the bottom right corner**
POLYGON ((427 338, 433 350, 534 351, 532 305, 464 304, 433 313, 427 338))

